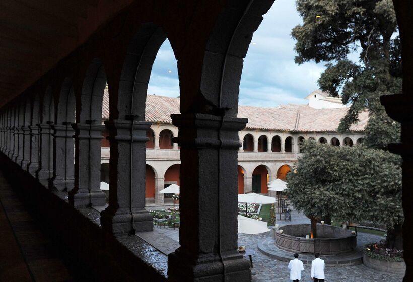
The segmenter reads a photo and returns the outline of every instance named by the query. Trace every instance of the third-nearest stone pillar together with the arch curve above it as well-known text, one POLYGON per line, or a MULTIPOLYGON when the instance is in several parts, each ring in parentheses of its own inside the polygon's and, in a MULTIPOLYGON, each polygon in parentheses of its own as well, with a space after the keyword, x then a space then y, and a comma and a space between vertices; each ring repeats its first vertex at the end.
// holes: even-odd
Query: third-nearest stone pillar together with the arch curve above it
MULTIPOLYGON (((100 190, 99 169, 102 132, 105 129, 102 125, 102 105, 106 84, 106 72, 102 61, 99 58, 92 59, 83 79, 78 100, 80 103, 76 103, 77 123, 73 126, 76 173, 69 201, 75 206, 106 204, 106 196, 100 190)), ((113 187, 111 183, 110 185, 113 187)))

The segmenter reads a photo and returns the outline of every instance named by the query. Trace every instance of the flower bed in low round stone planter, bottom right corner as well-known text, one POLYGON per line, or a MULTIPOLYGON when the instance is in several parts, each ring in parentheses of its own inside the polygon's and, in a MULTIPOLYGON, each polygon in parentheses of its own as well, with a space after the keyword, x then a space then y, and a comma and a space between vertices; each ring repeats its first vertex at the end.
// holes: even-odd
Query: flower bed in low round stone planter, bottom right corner
POLYGON ((387 249, 384 240, 366 245, 363 251, 363 264, 369 268, 393 274, 404 275, 406 271, 403 251, 387 249))

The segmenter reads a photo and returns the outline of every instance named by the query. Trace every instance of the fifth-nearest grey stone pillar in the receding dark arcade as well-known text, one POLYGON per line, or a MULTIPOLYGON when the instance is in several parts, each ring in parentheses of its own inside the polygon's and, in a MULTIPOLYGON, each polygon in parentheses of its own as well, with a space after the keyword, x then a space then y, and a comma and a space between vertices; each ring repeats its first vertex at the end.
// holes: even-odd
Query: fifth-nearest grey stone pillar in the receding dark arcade
POLYGON ((53 177, 53 122, 39 126, 39 169, 36 171, 37 180, 45 187, 49 187, 49 181, 53 177))

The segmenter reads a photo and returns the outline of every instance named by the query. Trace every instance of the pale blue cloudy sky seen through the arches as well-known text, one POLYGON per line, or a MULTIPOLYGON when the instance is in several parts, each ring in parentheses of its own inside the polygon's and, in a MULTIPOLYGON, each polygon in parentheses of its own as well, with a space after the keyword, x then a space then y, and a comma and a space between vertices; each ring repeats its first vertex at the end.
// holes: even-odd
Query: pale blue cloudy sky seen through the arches
MULTIPOLYGON (((302 23, 294 0, 277 0, 264 15, 254 33, 244 60, 240 85, 240 105, 274 107, 306 104, 306 97, 318 88, 323 64, 294 63, 295 41, 291 30, 302 23)), ((148 94, 177 97, 179 82, 176 60, 168 41, 155 60, 148 94)))

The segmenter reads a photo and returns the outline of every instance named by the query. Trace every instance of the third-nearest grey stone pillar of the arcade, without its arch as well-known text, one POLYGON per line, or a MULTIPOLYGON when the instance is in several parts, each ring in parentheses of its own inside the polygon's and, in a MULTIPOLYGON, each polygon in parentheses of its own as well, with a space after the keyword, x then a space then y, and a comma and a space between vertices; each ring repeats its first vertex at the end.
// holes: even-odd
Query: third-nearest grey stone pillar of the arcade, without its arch
POLYGON ((105 205, 105 193, 100 190, 100 145, 105 126, 88 120, 87 124, 74 123, 72 127, 76 146, 75 185, 69 193, 69 202, 74 206, 105 205))

